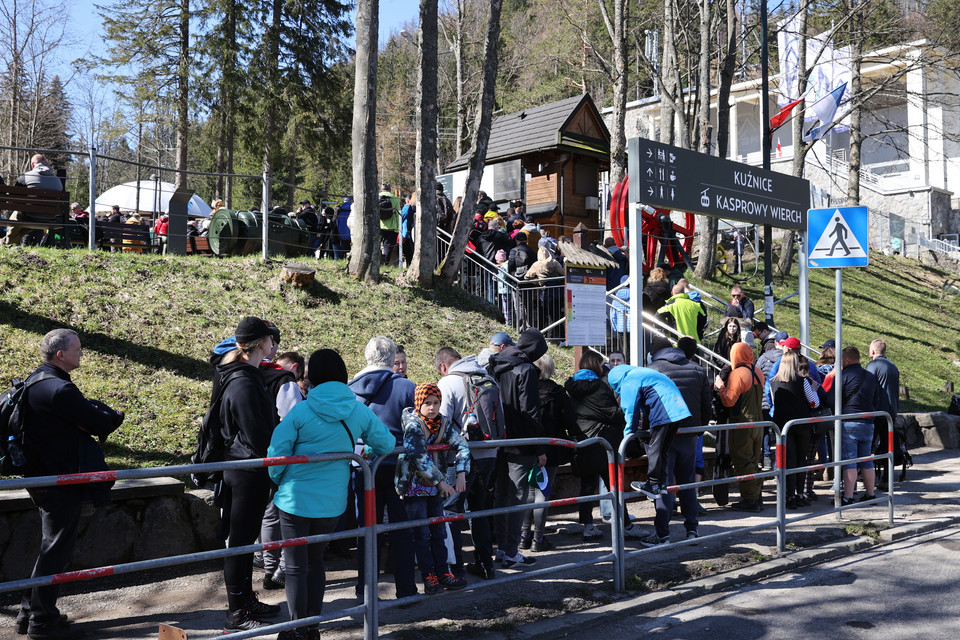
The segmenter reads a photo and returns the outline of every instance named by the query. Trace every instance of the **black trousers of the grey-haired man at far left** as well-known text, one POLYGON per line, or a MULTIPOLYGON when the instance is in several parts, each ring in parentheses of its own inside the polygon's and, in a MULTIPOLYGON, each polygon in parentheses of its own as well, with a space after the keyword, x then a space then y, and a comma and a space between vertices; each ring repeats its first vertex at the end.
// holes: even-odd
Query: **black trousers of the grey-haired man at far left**
MULTIPOLYGON (((81 487, 51 487, 30 490, 30 498, 40 510, 40 553, 33 566, 31 578, 60 573, 67 568, 77 542, 80 524, 81 487)), ((34 587, 24 593, 20 604, 20 618, 30 617, 32 630, 56 626, 60 619, 57 609, 58 585, 34 587)))

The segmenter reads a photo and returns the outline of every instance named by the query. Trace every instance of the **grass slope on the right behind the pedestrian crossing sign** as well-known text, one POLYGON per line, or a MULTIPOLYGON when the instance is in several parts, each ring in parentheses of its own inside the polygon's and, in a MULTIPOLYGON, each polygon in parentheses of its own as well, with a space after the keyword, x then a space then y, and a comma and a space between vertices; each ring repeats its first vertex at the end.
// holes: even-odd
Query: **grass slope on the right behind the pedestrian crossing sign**
MULTIPOLYGON (((946 409, 950 394, 944 382, 960 378, 960 296, 956 274, 903 256, 872 251, 870 266, 843 270, 843 342, 856 345, 867 362, 870 341, 887 341, 887 356, 900 369, 900 384, 910 392, 901 410, 946 409)), ((698 283, 718 297, 733 281, 698 283)), ((774 281, 776 297, 798 288, 797 268, 792 277, 774 281)), ((763 305, 762 271, 743 285, 756 304, 763 305)), ((834 336, 835 272, 810 270, 810 340, 813 346, 834 336)), ((799 331, 799 297, 778 304, 777 327, 799 331)))

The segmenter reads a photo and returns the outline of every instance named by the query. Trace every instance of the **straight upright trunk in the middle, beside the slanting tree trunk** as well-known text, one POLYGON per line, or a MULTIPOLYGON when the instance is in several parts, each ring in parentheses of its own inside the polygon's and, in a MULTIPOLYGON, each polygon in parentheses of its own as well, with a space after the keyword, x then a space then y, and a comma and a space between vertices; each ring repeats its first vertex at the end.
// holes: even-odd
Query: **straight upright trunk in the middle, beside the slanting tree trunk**
POLYGON ((437 0, 420 0, 417 67, 417 214, 415 252, 407 277, 433 286, 437 265, 437 0))

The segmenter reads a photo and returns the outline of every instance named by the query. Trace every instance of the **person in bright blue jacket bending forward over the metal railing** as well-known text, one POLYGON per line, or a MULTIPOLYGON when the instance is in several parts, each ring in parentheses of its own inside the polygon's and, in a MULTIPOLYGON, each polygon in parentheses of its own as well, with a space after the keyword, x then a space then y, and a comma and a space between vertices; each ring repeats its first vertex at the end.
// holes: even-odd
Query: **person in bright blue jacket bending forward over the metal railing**
POLYGON ((620 398, 627 425, 624 437, 649 431, 647 481, 630 486, 651 499, 666 491, 666 452, 681 426, 693 426, 690 409, 677 385, 659 371, 628 364, 610 370, 607 381, 620 398))

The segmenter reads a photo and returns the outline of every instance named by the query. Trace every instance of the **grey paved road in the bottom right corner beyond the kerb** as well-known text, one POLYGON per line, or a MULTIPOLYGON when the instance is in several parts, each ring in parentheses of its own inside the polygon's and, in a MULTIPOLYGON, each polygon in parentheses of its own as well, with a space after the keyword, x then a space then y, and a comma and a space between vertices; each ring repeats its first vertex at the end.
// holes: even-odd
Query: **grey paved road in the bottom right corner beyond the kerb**
POLYGON ((958 594, 960 527, 952 527, 659 611, 609 616, 568 637, 953 639, 958 594))

